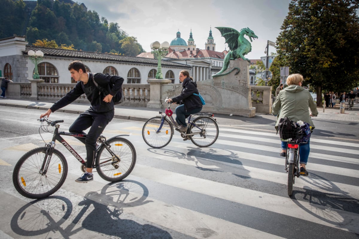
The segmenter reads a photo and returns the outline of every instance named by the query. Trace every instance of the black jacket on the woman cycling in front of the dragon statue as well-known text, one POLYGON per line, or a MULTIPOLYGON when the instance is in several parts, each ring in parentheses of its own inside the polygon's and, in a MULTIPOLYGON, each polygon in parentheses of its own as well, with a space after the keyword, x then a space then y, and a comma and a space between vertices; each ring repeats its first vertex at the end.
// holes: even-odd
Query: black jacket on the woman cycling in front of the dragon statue
POLYGON ((198 94, 197 83, 192 81, 190 77, 187 77, 183 80, 182 87, 181 95, 172 98, 172 101, 177 104, 180 103, 181 105, 185 104, 186 112, 191 109, 202 107, 200 97, 193 94, 198 94))

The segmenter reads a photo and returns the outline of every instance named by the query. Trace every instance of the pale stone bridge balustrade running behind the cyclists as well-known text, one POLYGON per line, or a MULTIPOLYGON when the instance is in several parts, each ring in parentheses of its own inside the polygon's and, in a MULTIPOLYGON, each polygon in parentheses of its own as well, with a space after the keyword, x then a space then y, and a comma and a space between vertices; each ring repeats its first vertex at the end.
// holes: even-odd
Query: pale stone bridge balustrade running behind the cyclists
MULTIPOLYGON (((28 99, 55 102, 66 95, 74 86, 70 84, 42 83, 39 80, 31 82, 9 83, 6 95, 13 99, 28 99)), ((168 80, 149 80, 149 84, 123 84, 122 92, 125 101, 123 106, 158 107, 158 99, 162 92, 162 86, 167 85, 168 80), (152 92, 152 96, 150 93, 152 92), (150 102, 151 101, 151 102, 150 102), (149 103, 149 104, 148 104, 149 103)), ((252 106, 257 113, 271 113, 272 99, 271 86, 251 86, 252 106)), ((206 95, 206 94, 202 94, 206 95)), ((75 102, 88 103, 85 95, 80 96, 75 102)))

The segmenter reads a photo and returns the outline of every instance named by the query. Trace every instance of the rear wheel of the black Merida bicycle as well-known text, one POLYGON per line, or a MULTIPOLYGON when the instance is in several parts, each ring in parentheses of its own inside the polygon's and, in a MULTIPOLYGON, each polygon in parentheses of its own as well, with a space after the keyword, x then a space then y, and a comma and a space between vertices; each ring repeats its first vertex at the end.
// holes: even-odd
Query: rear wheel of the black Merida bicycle
POLYGON ((136 163, 136 150, 124 138, 113 138, 99 149, 96 157, 96 170, 100 177, 109 182, 117 182, 129 176, 136 163), (111 151, 111 152, 110 152, 111 151), (117 157, 120 159, 118 161, 117 157))

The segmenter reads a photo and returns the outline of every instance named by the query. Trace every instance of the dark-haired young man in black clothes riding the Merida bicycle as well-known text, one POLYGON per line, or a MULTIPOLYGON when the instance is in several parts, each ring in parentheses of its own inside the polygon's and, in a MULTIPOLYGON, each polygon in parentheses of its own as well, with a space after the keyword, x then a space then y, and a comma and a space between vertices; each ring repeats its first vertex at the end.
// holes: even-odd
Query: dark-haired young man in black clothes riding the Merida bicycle
POLYGON ((93 180, 92 168, 94 166, 96 141, 115 114, 115 104, 112 97, 121 89, 123 78, 102 73, 88 73, 85 65, 80 61, 71 62, 68 70, 71 77, 77 81, 75 87, 53 104, 40 118, 48 117, 52 112, 70 104, 82 94, 86 95, 91 104, 90 108, 80 114, 69 128, 70 133, 79 134, 86 134, 84 130, 90 128, 85 139, 78 138, 86 147, 87 169, 81 177, 76 179, 76 182, 85 183, 93 180), (110 93, 106 95, 100 91, 94 81, 110 93))

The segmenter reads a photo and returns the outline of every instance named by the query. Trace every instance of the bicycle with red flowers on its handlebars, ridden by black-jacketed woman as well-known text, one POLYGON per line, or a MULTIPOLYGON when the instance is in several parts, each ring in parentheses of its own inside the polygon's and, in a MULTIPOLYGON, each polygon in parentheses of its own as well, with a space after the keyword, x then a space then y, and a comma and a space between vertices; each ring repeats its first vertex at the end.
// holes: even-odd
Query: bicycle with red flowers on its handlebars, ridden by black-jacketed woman
MULTIPOLYGON (((155 116, 146 121, 142 128, 142 137, 146 144, 152 148, 165 147, 171 142, 174 130, 179 125, 173 119, 173 111, 171 110, 171 103, 167 102, 168 99, 159 100, 161 116, 155 116), (165 107, 168 104, 168 107, 165 107), (168 118, 167 118, 168 117, 168 118)), ((211 113, 199 113, 194 116, 188 117, 187 132, 181 132, 183 140, 190 139, 192 143, 198 147, 208 147, 218 138, 218 125, 211 113)))

